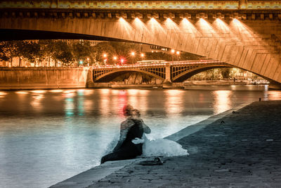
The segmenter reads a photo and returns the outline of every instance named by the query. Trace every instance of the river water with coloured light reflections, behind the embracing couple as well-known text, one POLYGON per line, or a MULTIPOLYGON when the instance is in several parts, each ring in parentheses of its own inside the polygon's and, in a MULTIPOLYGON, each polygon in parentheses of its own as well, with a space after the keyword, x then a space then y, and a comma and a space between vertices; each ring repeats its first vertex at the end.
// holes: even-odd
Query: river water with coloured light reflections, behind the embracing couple
POLYGON ((266 86, 239 88, 0 91, 0 187, 49 187, 98 165, 117 142, 125 104, 155 139, 240 104, 281 99, 266 86))

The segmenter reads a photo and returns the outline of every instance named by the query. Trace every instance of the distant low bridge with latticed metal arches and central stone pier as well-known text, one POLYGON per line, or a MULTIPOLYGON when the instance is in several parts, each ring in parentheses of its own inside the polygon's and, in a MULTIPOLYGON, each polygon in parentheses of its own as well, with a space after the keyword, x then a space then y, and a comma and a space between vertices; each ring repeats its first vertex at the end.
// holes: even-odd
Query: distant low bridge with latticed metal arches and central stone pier
POLYGON ((233 68, 233 65, 221 61, 177 61, 153 64, 137 64, 122 66, 93 67, 93 82, 110 82, 115 77, 126 73, 143 73, 156 77, 165 82, 183 82, 192 75, 196 75, 212 68, 233 68))

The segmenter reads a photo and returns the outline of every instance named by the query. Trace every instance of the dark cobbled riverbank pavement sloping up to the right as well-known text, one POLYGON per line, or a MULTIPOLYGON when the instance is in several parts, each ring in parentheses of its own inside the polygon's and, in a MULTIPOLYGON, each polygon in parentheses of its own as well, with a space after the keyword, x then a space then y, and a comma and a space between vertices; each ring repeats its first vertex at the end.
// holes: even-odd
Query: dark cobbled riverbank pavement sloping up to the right
POLYGON ((163 165, 139 164, 151 158, 107 162, 91 170, 119 167, 98 178, 81 173, 87 183, 72 177, 54 187, 281 187, 280 113, 281 101, 231 109, 168 137, 188 156, 164 157, 163 165))

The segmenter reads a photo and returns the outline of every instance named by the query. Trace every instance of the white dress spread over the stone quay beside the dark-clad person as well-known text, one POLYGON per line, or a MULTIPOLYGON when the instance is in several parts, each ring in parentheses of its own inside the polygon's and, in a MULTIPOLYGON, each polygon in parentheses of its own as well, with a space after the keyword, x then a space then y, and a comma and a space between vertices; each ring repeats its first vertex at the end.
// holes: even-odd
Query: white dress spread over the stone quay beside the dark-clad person
POLYGON ((188 150, 183 149, 181 144, 169 139, 149 140, 143 134, 143 156, 186 156, 188 150))

